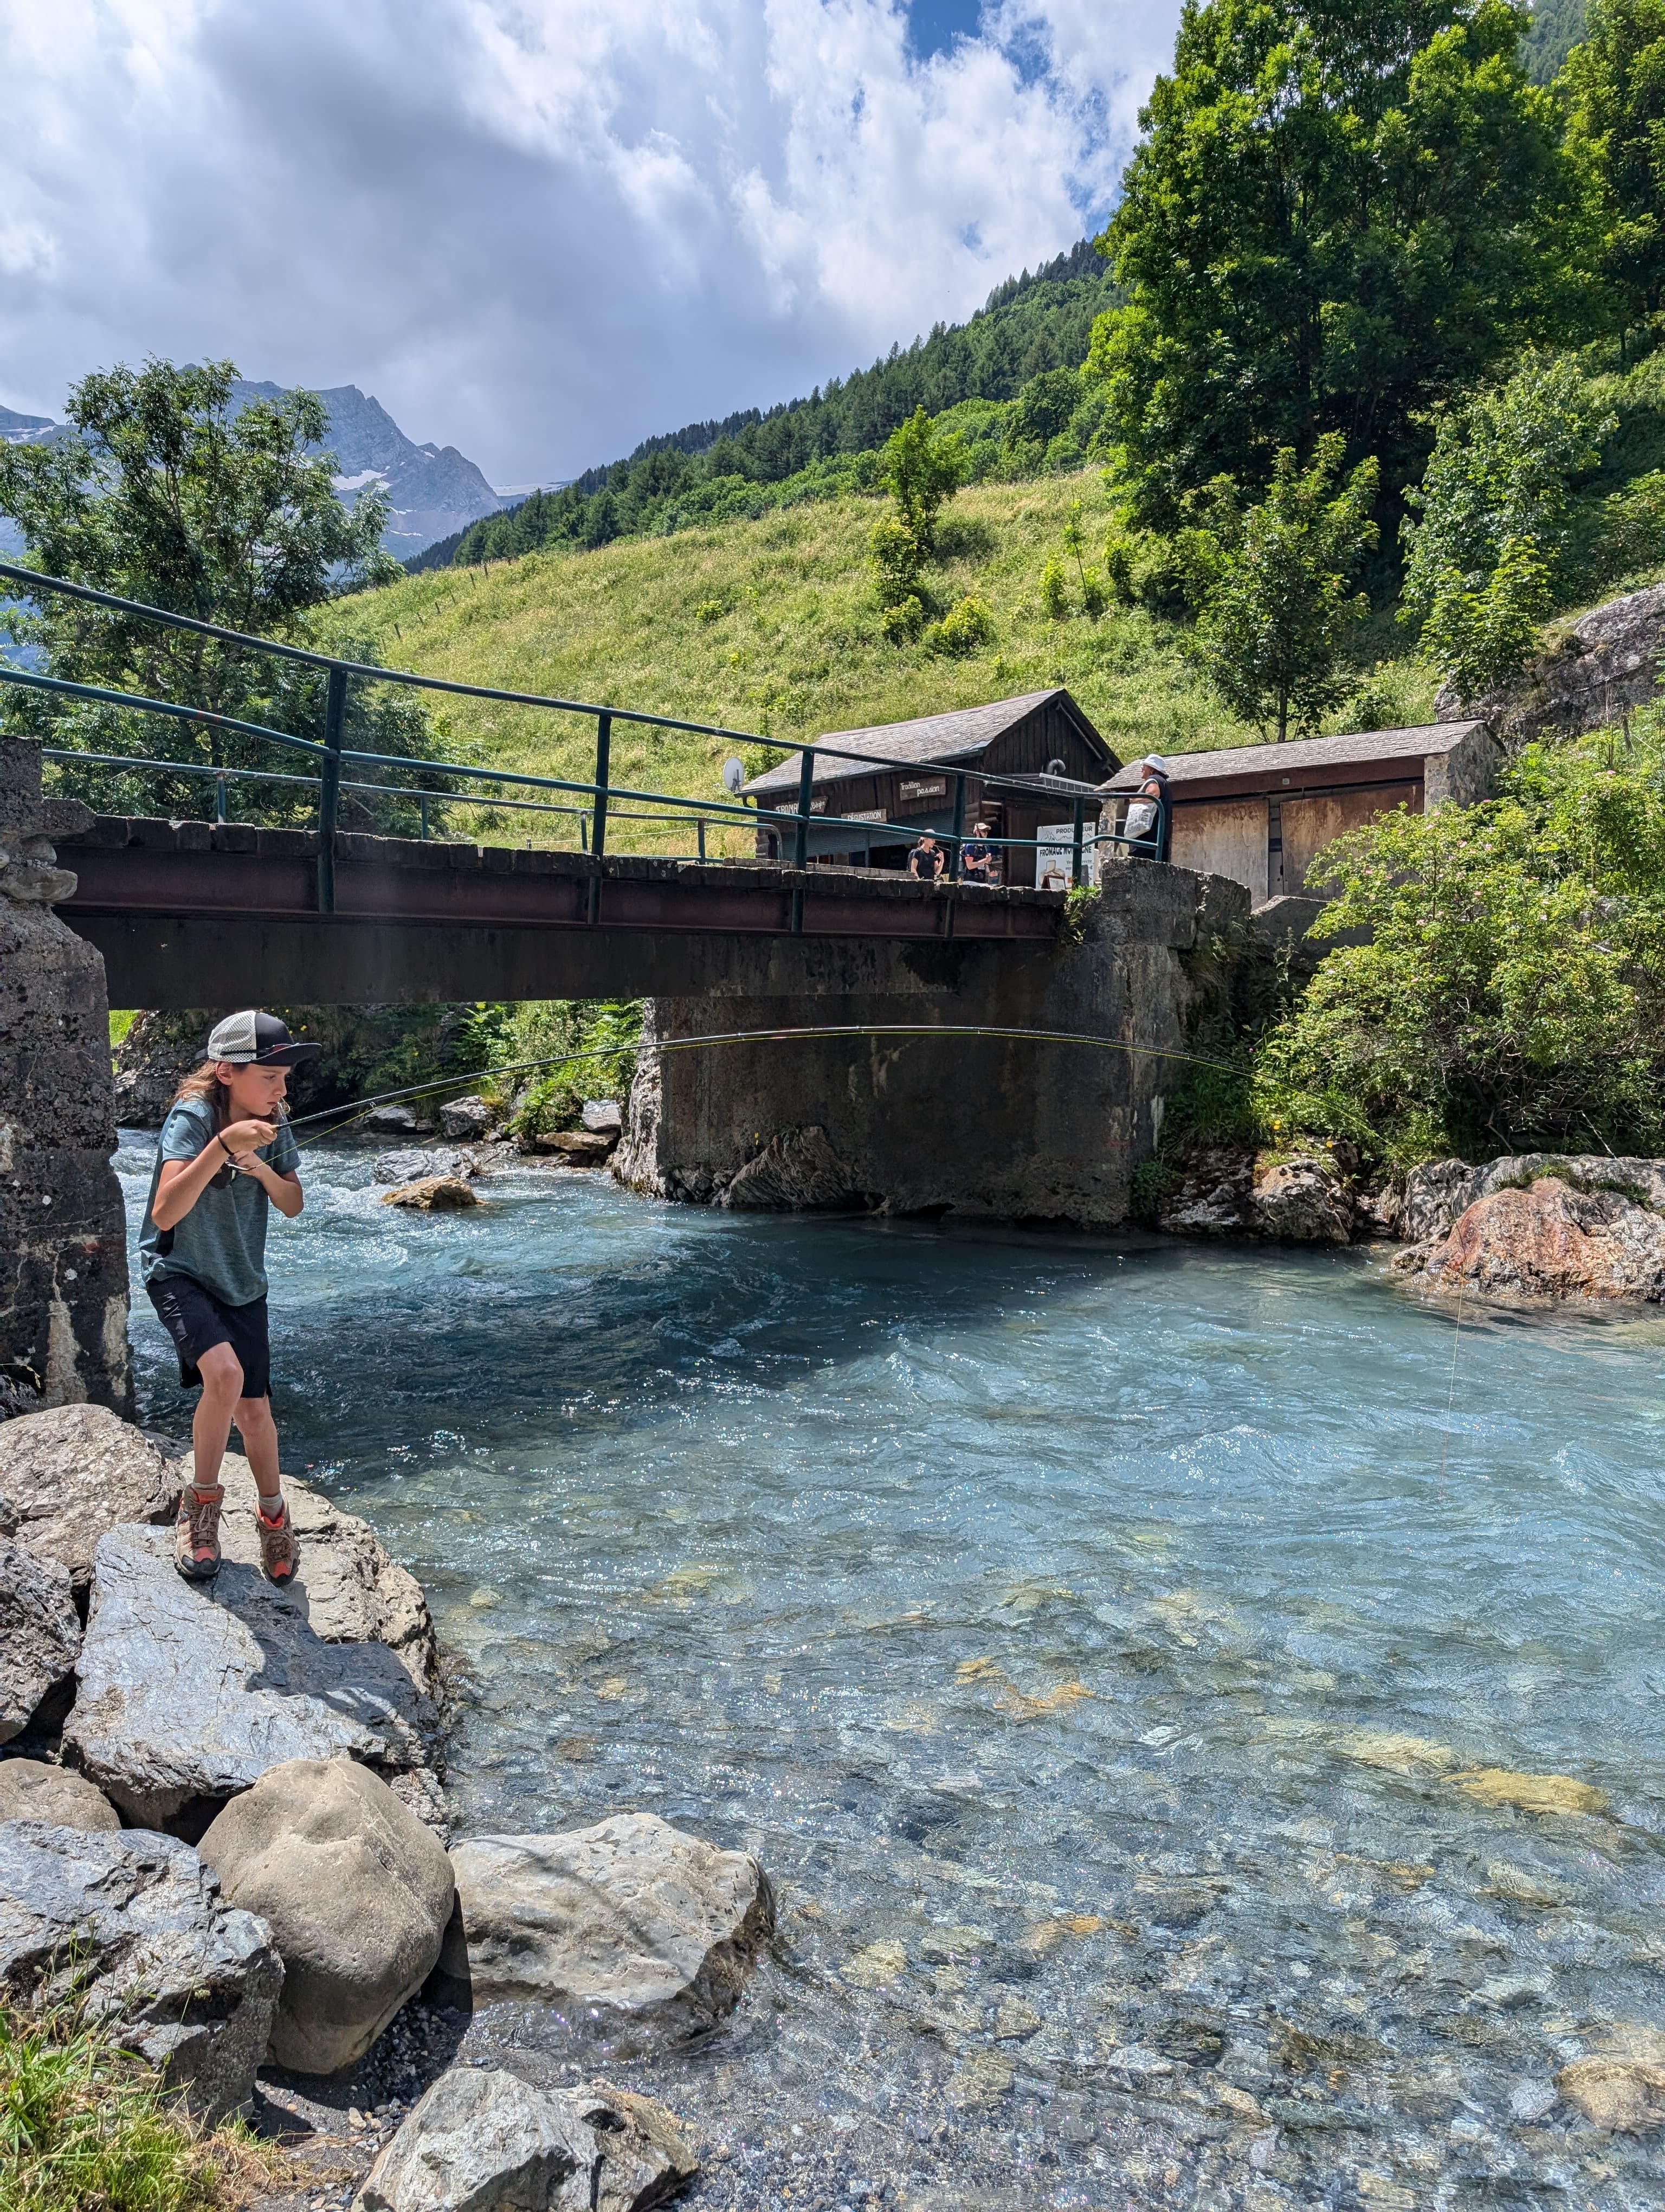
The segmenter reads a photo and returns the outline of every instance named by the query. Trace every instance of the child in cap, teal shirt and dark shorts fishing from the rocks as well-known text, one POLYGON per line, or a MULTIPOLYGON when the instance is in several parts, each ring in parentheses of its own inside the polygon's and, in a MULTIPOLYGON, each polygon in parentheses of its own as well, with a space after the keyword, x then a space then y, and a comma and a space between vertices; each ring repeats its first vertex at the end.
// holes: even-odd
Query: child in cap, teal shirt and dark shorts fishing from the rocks
POLYGON ((265 1214, 276 1206, 294 1221, 305 1203, 301 1150, 281 1108, 290 1068, 318 1051, 296 1044, 274 1013, 228 1013, 208 1037, 208 1064, 179 1084, 161 1124, 139 1252, 144 1287, 179 1352, 179 1383, 201 1387, 172 1535, 172 1562, 190 1582, 219 1573, 219 1469, 232 1422, 261 1493, 261 1564, 272 1582, 294 1577, 299 1546, 268 1396, 265 1214))

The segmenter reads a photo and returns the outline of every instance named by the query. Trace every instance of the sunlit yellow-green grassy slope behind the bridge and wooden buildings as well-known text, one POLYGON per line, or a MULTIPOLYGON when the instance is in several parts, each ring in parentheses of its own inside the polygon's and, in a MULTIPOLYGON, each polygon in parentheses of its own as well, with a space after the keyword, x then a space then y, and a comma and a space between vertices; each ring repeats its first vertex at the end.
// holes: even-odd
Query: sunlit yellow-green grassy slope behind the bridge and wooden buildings
MULTIPOLYGON (((1256 732, 1223 714, 1190 672, 1181 624, 1145 608, 1112 608, 1099 622, 1046 619, 1041 564, 1057 551, 1077 500, 1088 546, 1097 546, 1110 520, 1097 469, 973 484, 953 502, 933 586, 944 604, 977 593, 995 615, 993 644, 968 659, 884 641, 865 560, 880 504, 862 498, 593 553, 440 568, 354 595, 338 619, 374 637, 389 666, 635 706, 761 737, 820 737, 1068 684, 1123 757, 1254 741, 1256 732)), ((1375 650, 1400 650, 1391 624, 1382 624, 1375 650)), ((1424 719, 1431 688, 1395 661, 1366 688, 1358 710, 1336 728, 1424 719)), ((590 723, 464 699, 440 701, 438 719, 447 750, 467 745, 471 759, 575 779, 593 772, 590 723)), ((719 768, 730 752, 725 739, 621 726, 612 739, 612 779, 721 799, 719 768)), ((750 765, 765 759, 756 754, 750 765)), ((455 827, 515 843, 577 841, 573 825, 551 816, 493 818, 469 810, 455 827)), ((619 823, 612 843, 688 852, 692 834, 619 823)), ((710 849, 721 849, 716 838, 710 849)), ((727 849, 750 849, 745 832, 732 832, 727 849)))

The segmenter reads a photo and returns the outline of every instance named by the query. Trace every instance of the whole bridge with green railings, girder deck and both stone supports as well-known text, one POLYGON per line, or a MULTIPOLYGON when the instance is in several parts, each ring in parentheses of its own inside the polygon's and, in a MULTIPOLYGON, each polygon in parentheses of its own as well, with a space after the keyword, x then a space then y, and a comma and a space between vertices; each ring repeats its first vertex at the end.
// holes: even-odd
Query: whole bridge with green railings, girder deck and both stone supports
MULTIPOLYGON (((829 827, 814 812, 818 757, 891 761, 341 661, 15 562, 0 562, 0 577, 69 593, 95 611, 88 619, 170 624, 323 679, 321 734, 303 737, 0 664, 0 686, 46 708, 42 741, 0 739, 0 1380, 13 1367, 49 1402, 130 1398, 126 1234, 108 1168, 111 1000, 228 1009, 639 995, 650 1002, 648 1051, 615 1168, 637 1190, 734 1208, 1092 1228, 1128 1219, 1132 1170, 1183 1073, 1210 947, 1247 920, 1236 885, 1156 860, 1103 869, 1083 905, 960 883, 973 772, 953 765, 940 770, 955 785, 946 880, 809 867, 811 821, 829 827), (378 684, 588 719, 593 774, 352 745, 352 697, 378 684), (80 706, 117 710, 117 728, 186 732, 197 750, 177 739, 126 752, 51 743, 77 734, 62 717, 80 706), (721 801, 619 785, 619 721, 796 754, 796 805, 732 796, 739 761, 721 801), (274 768, 279 754, 285 765, 274 768), (46 763, 55 792, 42 796, 46 763), (146 781, 170 796, 212 794, 214 818, 73 796, 146 781), (265 821, 234 818, 250 787, 265 821), (568 838, 577 830, 577 849, 447 834, 471 807, 489 821, 513 810, 568 838), (312 821, 274 825, 283 810, 312 821), (374 827, 352 827, 354 812, 374 827), (672 821, 692 827, 697 852, 610 849, 624 823, 663 834, 672 821), (714 858, 708 823, 745 825, 752 845, 767 823, 792 858, 714 858), (783 1037, 816 1024, 814 1040, 783 1037), (840 1035, 825 1033, 831 1024, 840 1035), (652 1051, 710 1031, 747 1042, 652 1051)), ((1072 880, 1083 885, 1092 854, 1117 843, 1088 825, 1077 785, 1072 880)))

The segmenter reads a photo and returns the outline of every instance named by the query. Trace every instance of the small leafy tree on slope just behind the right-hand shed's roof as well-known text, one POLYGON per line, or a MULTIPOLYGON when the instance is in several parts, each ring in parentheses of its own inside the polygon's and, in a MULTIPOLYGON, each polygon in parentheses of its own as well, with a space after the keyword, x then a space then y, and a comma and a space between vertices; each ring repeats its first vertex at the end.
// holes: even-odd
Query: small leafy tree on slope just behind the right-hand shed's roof
POLYGON ((1347 697, 1342 644, 1369 613, 1347 584, 1375 544, 1378 471, 1362 460, 1338 489, 1342 449, 1340 431, 1327 431, 1302 469, 1285 447, 1267 498, 1240 522, 1229 493, 1216 502, 1198 657, 1227 706, 1278 741, 1291 726, 1313 730, 1347 697))

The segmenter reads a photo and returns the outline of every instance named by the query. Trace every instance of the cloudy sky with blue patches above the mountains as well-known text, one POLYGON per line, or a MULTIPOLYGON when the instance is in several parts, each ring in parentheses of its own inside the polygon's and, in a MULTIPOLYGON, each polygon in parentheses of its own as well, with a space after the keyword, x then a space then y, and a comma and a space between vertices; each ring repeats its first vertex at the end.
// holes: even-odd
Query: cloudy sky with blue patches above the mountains
POLYGON ((807 392, 1110 208, 1179 0, 0 0, 0 403, 234 358, 493 482, 807 392))

